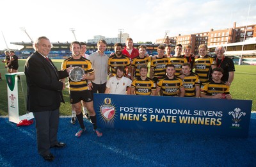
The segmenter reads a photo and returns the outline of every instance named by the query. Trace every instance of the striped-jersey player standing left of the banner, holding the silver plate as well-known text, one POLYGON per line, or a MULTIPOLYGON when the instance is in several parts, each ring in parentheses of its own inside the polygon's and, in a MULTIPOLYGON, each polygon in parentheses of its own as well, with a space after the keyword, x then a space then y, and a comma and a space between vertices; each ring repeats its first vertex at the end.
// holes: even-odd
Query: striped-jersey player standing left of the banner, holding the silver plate
POLYGON ((97 119, 96 113, 93 108, 93 97, 90 90, 88 90, 88 81, 94 79, 94 70, 92 68, 92 63, 86 58, 81 56, 81 44, 80 42, 72 42, 70 45, 70 51, 72 51, 72 56, 67 58, 62 63, 62 69, 68 67, 81 67, 84 70, 84 75, 81 81, 74 82, 70 78, 69 82, 69 92, 70 92, 70 103, 76 109, 76 118, 79 122, 80 129, 76 133, 76 137, 80 137, 81 134, 86 130, 83 122, 83 113, 81 111, 81 100, 85 103, 84 106, 87 107, 90 118, 93 124, 93 131, 96 132, 97 136, 101 137, 102 133, 97 129, 97 119), (90 76, 88 75, 90 74, 90 76))

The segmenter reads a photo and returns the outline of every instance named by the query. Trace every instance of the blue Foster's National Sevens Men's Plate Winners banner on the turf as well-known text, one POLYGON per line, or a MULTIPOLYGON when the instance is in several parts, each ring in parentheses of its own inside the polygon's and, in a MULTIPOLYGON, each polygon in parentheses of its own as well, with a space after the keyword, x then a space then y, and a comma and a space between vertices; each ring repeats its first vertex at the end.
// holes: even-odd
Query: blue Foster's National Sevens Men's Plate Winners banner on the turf
POLYGON ((248 137, 252 100, 94 93, 97 125, 248 137))

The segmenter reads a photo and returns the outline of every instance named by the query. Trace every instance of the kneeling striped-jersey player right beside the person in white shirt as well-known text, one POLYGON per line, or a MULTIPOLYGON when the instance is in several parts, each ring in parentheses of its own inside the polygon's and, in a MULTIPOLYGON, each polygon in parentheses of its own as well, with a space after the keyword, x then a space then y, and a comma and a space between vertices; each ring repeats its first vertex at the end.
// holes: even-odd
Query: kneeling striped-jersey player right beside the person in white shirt
POLYGON ((148 67, 140 67, 140 78, 134 79, 131 86, 131 95, 156 95, 156 84, 147 77, 148 67))

